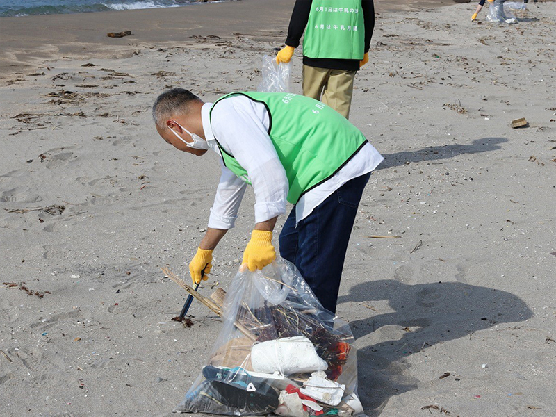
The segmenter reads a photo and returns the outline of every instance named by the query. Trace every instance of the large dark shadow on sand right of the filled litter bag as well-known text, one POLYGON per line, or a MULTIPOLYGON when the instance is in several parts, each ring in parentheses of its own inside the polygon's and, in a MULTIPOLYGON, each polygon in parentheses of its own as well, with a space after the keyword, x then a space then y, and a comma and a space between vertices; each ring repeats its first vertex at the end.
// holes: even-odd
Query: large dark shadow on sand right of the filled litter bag
MULTIPOLYGON (((500 322, 520 322, 533 316, 516 295, 459 282, 402 284, 395 280, 368 281, 339 297, 341 302, 389 300, 389 313, 350 322, 355 338, 373 332, 380 342, 357 352, 359 395, 371 416, 378 416, 393 395, 416 389, 404 379, 402 359, 500 322)), ((373 343, 373 342, 371 342, 373 343)))

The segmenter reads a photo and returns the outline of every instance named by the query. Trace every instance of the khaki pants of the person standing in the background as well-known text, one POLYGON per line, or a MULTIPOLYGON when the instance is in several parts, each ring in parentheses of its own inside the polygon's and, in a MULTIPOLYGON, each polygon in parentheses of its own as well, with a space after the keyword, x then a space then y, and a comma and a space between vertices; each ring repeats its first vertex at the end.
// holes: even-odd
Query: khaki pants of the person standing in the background
POLYGON ((322 95, 322 103, 348 119, 356 72, 303 65, 303 95, 316 100, 322 95))

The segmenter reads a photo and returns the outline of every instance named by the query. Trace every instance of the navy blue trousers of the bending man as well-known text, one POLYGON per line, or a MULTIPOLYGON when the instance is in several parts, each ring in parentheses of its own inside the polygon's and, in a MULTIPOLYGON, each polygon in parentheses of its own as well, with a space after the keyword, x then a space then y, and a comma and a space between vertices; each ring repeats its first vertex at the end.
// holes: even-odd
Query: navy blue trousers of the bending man
POLYGON ((370 173, 347 181, 295 227, 293 207, 279 237, 280 256, 293 263, 325 309, 336 312, 347 243, 370 173))

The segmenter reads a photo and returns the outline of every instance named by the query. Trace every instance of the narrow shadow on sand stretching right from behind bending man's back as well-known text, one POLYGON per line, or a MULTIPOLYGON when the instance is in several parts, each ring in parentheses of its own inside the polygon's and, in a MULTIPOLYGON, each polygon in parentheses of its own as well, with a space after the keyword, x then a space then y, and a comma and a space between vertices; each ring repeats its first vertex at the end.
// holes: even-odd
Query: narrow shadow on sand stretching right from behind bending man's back
POLYGON ((481 138, 475 139, 469 145, 440 145, 430 146, 416 151, 402 151, 393 154, 382 154, 384 162, 378 165, 376 170, 397 167, 407 162, 437 161, 449 159, 462 154, 478 154, 480 152, 492 152, 502 149, 500 143, 507 142, 507 138, 481 138))

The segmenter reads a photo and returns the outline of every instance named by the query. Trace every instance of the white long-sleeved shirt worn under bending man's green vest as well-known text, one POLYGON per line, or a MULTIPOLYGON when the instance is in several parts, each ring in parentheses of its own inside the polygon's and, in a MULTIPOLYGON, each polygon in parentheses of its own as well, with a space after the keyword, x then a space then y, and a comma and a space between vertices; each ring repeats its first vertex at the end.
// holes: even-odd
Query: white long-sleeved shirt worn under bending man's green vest
MULTIPOLYGON (((205 103, 202 107, 203 130, 206 142, 220 156, 222 174, 208 227, 234 227, 247 186, 224 166, 216 140, 248 173, 255 193, 255 222, 286 213, 288 178, 268 136, 269 117, 265 105, 243 95, 232 96, 219 101, 209 118, 212 106, 212 103, 205 103)), ((382 161, 384 158, 367 142, 334 176, 302 195, 295 206, 296 224, 347 181, 371 172, 382 161)))

